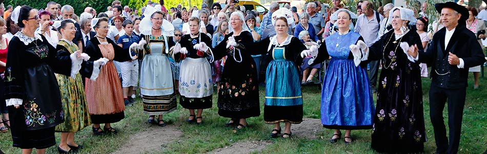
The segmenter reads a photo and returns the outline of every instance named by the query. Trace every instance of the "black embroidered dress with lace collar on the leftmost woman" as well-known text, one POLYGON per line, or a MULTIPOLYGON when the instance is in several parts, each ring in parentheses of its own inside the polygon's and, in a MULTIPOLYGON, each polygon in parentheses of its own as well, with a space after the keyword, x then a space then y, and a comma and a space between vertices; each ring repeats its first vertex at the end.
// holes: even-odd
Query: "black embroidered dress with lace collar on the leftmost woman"
MULTIPOLYGON (((70 75, 71 59, 56 56, 56 49, 37 33, 18 32, 10 41, 5 72, 13 146, 44 149, 56 144, 54 127, 64 122, 59 86, 54 72, 70 75), (10 102, 10 103, 9 103, 10 102)), ((77 64, 76 64, 77 65, 77 64)))

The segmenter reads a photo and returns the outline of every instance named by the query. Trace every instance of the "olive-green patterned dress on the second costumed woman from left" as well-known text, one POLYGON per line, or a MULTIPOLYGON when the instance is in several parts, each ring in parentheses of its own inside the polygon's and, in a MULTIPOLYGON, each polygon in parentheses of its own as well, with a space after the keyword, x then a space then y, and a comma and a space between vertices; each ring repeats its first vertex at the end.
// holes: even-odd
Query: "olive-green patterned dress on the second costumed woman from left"
MULTIPOLYGON (((58 55, 71 54, 77 51, 78 47, 71 42, 68 43, 65 40, 60 40, 57 43, 56 49, 58 50, 58 55)), ((89 67, 87 64, 83 66, 89 67)), ((81 75, 77 73, 75 79, 63 74, 56 74, 56 77, 59 84, 59 91, 61 92, 65 121, 57 125, 55 130, 57 132, 77 132, 91 125, 81 75)))

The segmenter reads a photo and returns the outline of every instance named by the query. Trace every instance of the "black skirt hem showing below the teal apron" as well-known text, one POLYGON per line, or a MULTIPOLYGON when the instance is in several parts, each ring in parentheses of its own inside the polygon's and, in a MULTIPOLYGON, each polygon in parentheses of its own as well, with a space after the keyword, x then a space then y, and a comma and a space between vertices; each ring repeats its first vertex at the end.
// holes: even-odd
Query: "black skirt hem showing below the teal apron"
POLYGON ((302 105, 294 106, 264 106, 264 122, 275 124, 280 122, 290 122, 300 124, 302 122, 302 105))

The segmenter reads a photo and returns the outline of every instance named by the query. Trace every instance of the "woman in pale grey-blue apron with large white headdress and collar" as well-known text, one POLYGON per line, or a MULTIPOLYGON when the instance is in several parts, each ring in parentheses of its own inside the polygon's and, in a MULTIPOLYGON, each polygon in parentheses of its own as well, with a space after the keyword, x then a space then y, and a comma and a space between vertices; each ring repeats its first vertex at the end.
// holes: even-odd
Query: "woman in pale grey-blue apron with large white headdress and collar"
POLYGON ((143 51, 139 52, 139 58, 143 59, 140 69, 140 93, 144 113, 149 114, 148 122, 153 123, 155 115, 158 115, 158 125, 164 127, 166 123, 163 114, 177 108, 171 64, 167 55, 174 42, 163 28, 163 22, 166 21, 163 21, 162 12, 147 6, 144 15, 146 17, 140 22, 139 28, 139 45, 143 46, 143 51))

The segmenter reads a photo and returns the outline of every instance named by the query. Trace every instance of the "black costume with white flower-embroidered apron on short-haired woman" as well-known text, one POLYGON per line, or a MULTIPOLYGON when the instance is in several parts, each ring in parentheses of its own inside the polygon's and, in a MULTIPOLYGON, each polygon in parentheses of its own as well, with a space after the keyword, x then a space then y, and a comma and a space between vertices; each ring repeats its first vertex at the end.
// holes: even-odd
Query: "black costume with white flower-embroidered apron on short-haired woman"
POLYGON ((194 45, 200 42, 209 45, 211 38, 201 33, 194 38, 191 38, 190 34, 186 34, 181 37, 179 43, 181 47, 185 47, 188 50, 188 53, 182 55, 181 53, 172 54, 172 51, 169 52, 177 61, 181 59, 181 56, 184 57, 179 72, 179 104, 187 109, 211 108, 213 100, 211 67, 206 59, 208 54, 205 51, 193 48, 194 45))

